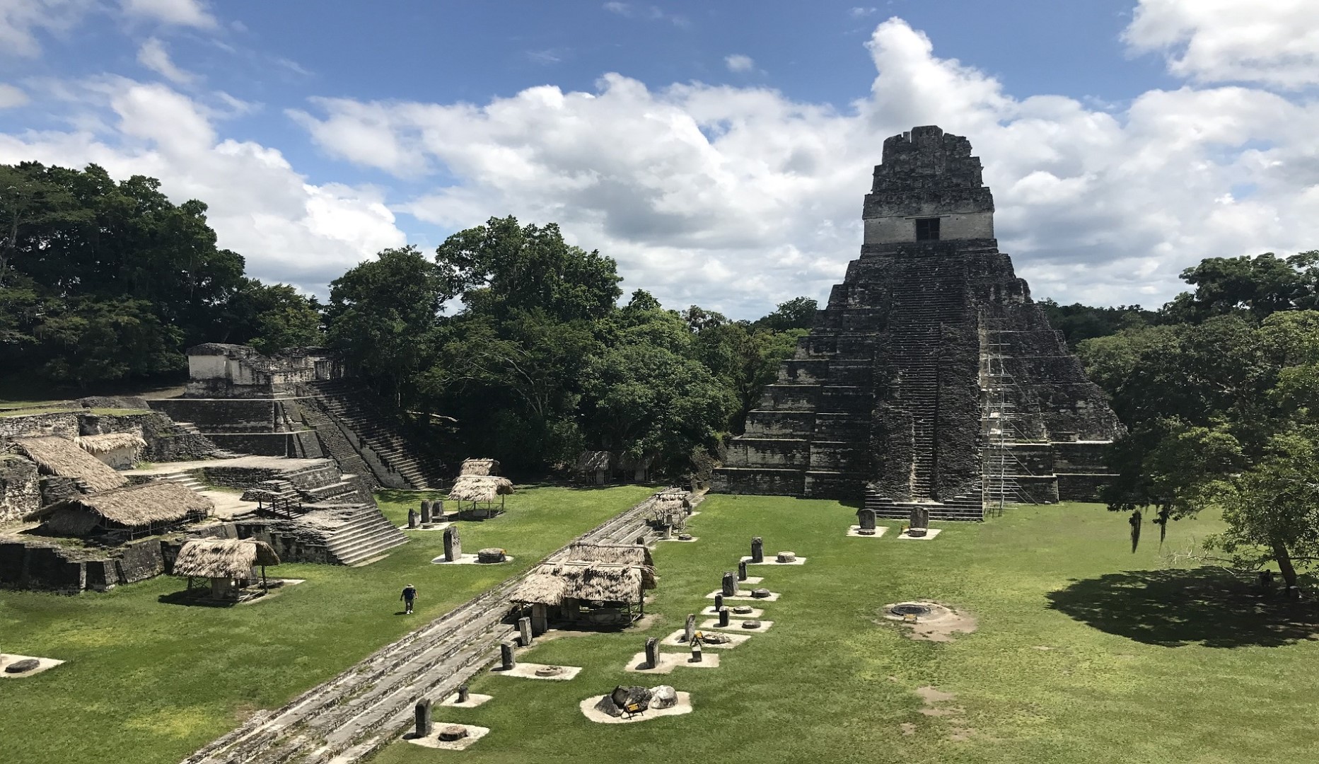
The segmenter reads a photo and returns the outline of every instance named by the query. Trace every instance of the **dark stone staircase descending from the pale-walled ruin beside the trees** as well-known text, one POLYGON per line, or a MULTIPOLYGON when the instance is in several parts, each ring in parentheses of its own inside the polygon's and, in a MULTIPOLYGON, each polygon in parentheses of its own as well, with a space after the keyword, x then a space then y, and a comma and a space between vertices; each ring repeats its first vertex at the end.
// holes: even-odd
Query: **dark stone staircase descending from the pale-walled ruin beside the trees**
MULTIPOLYGON (((385 468, 402 478, 409 488, 438 488, 445 484, 443 464, 409 442, 393 418, 385 413, 384 406, 376 401, 375 393, 363 383, 352 379, 336 379, 307 383, 306 387, 314 396, 313 402, 309 404, 310 408, 318 408, 334 424, 356 434, 376 454, 385 468)), ((323 425, 309 424, 317 428, 318 435, 322 434, 323 425)), ((335 443, 332 434, 330 442, 326 442, 327 450, 336 461, 343 455, 352 462, 351 457, 344 453, 344 445, 352 449, 346 438, 343 443, 335 443)), ((357 459, 365 464, 360 454, 357 459)), ((376 478, 377 483, 381 482, 381 476, 376 478)))

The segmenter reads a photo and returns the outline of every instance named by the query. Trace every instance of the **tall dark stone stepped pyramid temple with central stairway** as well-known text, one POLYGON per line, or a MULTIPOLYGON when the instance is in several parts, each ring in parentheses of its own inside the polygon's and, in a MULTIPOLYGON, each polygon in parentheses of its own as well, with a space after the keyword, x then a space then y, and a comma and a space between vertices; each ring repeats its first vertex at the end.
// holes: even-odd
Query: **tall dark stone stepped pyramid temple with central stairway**
POLYGON ((1093 499, 1122 425, 993 235, 971 143, 884 141, 861 256, 778 369, 714 491, 863 500, 979 520, 1093 499))

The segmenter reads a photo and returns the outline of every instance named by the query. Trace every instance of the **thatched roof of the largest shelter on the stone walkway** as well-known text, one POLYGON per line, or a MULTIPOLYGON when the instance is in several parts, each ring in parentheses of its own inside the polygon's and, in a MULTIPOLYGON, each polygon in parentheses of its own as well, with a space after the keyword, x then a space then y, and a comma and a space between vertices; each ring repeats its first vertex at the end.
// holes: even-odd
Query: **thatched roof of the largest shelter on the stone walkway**
POLYGON ((578 542, 563 559, 537 566, 512 599, 525 604, 559 604, 566 598, 641 604, 645 590, 656 582, 654 561, 645 546, 578 542))

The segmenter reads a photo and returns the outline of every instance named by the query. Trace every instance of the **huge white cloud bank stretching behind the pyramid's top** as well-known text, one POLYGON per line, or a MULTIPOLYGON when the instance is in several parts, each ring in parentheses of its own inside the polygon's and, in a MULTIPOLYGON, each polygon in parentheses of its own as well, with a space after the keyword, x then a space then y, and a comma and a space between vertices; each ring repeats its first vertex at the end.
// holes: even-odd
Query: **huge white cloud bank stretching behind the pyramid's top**
POLYGON ((1004 251, 1037 296, 1157 305, 1212 255, 1319 244, 1319 107, 1248 87, 1154 90, 1122 112, 1018 99, 905 21, 868 41, 852 108, 754 87, 528 88, 485 104, 318 99, 293 112, 332 156, 434 178, 398 208, 448 228, 563 224, 669 305, 758 315, 823 298, 860 245, 885 137, 939 124, 985 164, 1004 251), (1239 194, 1233 195, 1233 189, 1239 194))

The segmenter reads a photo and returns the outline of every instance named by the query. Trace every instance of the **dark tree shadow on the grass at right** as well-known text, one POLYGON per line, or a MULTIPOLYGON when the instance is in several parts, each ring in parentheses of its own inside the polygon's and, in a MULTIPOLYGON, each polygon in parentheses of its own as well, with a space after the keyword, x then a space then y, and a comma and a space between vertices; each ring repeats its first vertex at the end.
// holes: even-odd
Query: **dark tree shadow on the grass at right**
POLYGON ((1212 567, 1128 570, 1047 594, 1050 607, 1140 643, 1210 648, 1282 647, 1319 639, 1319 607, 1266 595, 1212 567))

